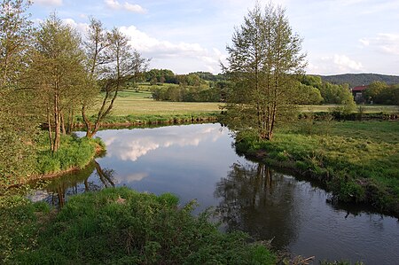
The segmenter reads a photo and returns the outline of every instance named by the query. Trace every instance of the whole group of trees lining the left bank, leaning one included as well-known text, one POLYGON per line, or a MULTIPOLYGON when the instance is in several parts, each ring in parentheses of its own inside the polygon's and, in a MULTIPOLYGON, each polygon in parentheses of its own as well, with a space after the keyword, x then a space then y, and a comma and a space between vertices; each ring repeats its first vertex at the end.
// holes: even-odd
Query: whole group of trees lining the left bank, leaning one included
POLYGON ((32 157, 39 124, 49 148, 73 129, 81 113, 92 137, 113 109, 118 92, 146 71, 148 59, 127 35, 90 18, 84 35, 51 14, 30 20, 30 1, 3 0, 0 11, 0 175, 22 172, 32 157), (90 119, 90 113, 97 113, 90 119), (20 163, 16 163, 20 161, 20 163), (20 164, 20 166, 18 166, 20 164))

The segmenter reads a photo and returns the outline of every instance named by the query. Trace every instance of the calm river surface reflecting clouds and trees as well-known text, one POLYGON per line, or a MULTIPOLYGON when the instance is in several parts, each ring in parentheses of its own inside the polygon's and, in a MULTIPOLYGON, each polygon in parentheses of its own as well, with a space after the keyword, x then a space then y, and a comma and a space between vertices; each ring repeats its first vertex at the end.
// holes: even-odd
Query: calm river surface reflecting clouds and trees
MULTIPOLYGON (((98 132, 103 158, 81 172, 51 181, 34 199, 62 205, 69 195, 109 186, 175 193, 215 207, 224 230, 317 260, 399 264, 399 222, 367 209, 335 206, 317 185, 248 161, 231 147, 219 124, 98 132)), ((317 264, 318 262, 315 262, 317 264)))

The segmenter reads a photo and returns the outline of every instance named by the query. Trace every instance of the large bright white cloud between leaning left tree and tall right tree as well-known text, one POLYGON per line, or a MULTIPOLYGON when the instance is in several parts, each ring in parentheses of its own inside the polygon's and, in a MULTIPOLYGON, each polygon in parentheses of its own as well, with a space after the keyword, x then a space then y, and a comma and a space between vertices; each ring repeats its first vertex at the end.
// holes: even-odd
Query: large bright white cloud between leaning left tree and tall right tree
POLYGON ((162 41, 145 34, 135 26, 121 27, 120 29, 122 33, 129 36, 133 48, 145 53, 147 57, 155 58, 160 64, 163 63, 163 66, 160 67, 169 67, 168 64, 171 63, 171 60, 176 60, 173 63, 176 67, 172 70, 180 73, 197 70, 216 73, 220 70, 219 61, 225 58, 221 51, 215 48, 208 51, 199 43, 162 41))

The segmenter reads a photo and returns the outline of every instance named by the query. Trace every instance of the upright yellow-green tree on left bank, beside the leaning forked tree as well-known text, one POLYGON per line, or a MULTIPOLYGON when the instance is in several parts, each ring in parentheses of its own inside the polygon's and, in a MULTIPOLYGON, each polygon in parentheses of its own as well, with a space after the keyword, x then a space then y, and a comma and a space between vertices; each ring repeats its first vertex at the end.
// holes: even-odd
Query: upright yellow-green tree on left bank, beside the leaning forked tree
POLYGON ((27 83, 43 100, 51 150, 57 152, 61 129, 65 130, 65 113, 76 106, 76 98, 81 97, 82 84, 87 80, 80 35, 53 14, 38 30, 31 58, 27 83))

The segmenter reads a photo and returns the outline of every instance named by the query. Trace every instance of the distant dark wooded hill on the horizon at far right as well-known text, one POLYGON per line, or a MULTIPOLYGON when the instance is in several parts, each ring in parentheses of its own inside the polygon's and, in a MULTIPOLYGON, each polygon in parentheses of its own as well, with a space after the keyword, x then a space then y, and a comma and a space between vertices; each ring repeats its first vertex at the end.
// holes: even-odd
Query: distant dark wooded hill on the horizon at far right
POLYGON ((387 82, 387 84, 398 84, 399 76, 385 74, 336 74, 320 75, 325 82, 336 84, 348 83, 349 87, 368 85, 374 81, 387 82))

